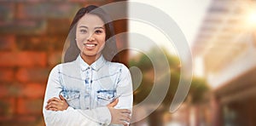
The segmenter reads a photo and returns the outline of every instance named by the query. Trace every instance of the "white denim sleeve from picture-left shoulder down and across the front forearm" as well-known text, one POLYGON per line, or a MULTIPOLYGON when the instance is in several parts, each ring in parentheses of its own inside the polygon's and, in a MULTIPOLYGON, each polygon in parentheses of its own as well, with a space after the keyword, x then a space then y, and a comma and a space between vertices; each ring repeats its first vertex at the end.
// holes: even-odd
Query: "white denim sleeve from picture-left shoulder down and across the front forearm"
POLYGON ((55 66, 49 74, 49 79, 44 96, 44 122, 46 125, 99 125, 109 124, 111 121, 111 114, 108 107, 98 107, 92 110, 79 110, 68 108, 66 111, 48 111, 45 109, 47 100, 56 97, 59 98, 61 92, 60 82, 60 65, 55 66))

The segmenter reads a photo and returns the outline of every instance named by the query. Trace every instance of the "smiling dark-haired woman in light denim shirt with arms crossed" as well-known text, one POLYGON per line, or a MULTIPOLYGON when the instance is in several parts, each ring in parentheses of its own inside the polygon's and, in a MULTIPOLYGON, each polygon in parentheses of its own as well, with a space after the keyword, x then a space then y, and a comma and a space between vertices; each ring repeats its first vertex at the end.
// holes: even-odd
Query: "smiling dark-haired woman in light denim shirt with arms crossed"
POLYGON ((113 25, 96 6, 79 9, 70 26, 63 64, 49 74, 46 125, 127 124, 131 118, 129 70, 117 61, 113 25))

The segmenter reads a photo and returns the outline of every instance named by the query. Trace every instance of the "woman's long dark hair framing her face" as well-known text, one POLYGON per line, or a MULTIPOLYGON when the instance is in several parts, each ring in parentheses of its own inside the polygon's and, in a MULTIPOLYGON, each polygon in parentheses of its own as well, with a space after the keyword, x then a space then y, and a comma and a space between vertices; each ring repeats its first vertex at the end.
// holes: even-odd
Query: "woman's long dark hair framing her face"
POLYGON ((113 31, 113 22, 110 16, 103 9, 95 5, 90 5, 86 8, 79 9, 77 14, 74 16, 73 21, 69 27, 69 33, 67 36, 67 41, 69 41, 70 44, 67 48, 67 51, 65 52, 64 62, 76 60, 76 58, 80 54, 80 49, 78 48, 78 45, 75 41, 77 23, 84 16, 84 14, 88 13, 96 14, 105 23, 104 26, 106 28, 106 43, 104 49, 102 49, 103 57, 108 61, 119 62, 119 55, 117 54, 118 51, 113 31))

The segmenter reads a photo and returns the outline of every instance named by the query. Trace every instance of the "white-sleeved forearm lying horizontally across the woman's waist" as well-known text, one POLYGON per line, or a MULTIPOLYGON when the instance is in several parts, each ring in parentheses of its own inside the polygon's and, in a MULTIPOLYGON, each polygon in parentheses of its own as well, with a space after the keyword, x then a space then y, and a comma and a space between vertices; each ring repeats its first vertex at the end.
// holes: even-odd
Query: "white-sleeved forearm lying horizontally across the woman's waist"
POLYGON ((99 125, 109 124, 111 115, 108 107, 99 107, 93 110, 80 110, 68 107, 66 111, 47 111, 44 109, 46 125, 99 125))

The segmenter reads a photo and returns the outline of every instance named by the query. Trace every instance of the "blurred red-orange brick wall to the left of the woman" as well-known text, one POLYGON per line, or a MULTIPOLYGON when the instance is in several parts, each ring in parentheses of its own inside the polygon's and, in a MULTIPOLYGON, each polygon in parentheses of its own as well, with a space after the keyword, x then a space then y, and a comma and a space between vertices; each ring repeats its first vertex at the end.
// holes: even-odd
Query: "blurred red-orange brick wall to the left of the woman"
MULTIPOLYGON (((61 63, 68 26, 88 4, 114 0, 0 1, 0 125, 44 125, 49 71, 61 63)), ((115 23, 126 31, 126 21, 115 23)))

